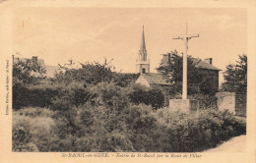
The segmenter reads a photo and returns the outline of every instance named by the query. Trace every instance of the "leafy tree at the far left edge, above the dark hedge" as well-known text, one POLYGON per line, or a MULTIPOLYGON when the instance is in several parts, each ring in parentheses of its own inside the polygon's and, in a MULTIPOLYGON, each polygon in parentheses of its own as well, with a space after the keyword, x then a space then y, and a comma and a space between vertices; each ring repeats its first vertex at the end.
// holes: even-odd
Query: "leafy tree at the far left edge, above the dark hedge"
POLYGON ((19 58, 13 65, 13 84, 35 84, 45 78, 46 70, 38 62, 28 59, 22 61, 19 58))

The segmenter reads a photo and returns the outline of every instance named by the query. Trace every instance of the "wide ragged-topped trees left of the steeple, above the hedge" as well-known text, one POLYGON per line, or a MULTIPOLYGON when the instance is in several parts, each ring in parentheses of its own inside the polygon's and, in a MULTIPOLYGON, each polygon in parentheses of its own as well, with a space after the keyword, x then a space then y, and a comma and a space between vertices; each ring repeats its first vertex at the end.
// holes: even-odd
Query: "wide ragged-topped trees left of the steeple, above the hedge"
POLYGON ((105 59, 103 64, 98 62, 86 62, 80 63, 80 66, 76 67, 75 63, 72 62, 72 64, 64 64, 64 66, 59 65, 62 71, 55 74, 55 78, 52 80, 65 82, 67 84, 73 81, 83 82, 84 84, 97 84, 102 81, 112 81, 119 86, 125 87, 138 79, 139 74, 112 72, 111 70, 114 67, 110 65, 110 62, 111 60, 107 62, 105 59))

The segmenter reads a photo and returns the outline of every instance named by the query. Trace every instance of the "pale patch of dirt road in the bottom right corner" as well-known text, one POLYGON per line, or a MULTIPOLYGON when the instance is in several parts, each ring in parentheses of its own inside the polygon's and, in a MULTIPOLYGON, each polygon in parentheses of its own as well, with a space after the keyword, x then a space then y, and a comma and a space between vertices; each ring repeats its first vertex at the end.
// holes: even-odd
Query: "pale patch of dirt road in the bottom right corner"
POLYGON ((243 152, 245 150, 245 138, 245 135, 235 136, 223 144, 204 152, 243 152))

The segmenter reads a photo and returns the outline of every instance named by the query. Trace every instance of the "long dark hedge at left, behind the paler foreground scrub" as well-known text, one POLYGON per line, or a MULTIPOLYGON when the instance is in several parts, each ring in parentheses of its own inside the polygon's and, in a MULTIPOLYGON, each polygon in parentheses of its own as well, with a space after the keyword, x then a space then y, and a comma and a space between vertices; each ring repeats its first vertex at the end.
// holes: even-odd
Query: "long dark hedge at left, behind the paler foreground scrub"
POLYGON ((71 82, 65 84, 38 84, 23 86, 15 84, 13 87, 13 107, 50 107, 62 110, 71 106, 79 106, 93 96, 83 83, 71 82))

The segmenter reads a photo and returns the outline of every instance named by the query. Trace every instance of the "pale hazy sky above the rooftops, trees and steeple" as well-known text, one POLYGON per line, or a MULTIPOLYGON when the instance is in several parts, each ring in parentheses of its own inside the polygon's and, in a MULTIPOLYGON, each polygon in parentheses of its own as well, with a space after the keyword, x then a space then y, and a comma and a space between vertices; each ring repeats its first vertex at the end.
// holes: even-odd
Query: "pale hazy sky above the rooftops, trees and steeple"
POLYGON ((13 18, 13 49, 25 58, 38 56, 46 65, 113 59, 117 72, 134 73, 144 26, 155 73, 160 54, 183 51, 183 42, 172 38, 185 33, 186 23, 188 34, 200 35, 189 40, 192 57, 211 57, 224 70, 247 53, 242 8, 19 8, 13 18))

